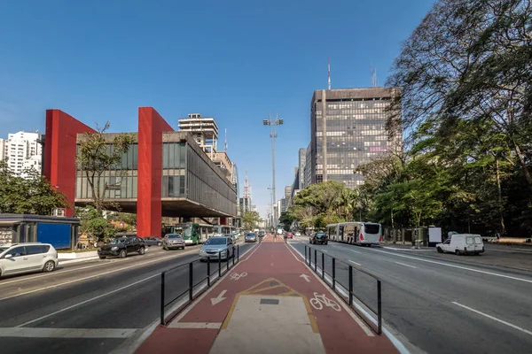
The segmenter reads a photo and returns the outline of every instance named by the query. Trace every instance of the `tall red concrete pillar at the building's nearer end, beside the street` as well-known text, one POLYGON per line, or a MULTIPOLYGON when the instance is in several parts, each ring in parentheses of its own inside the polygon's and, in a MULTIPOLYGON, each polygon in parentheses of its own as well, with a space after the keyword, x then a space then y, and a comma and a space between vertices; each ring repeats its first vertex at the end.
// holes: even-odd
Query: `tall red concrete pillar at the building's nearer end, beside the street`
POLYGON ((162 132, 174 129, 153 107, 138 107, 137 235, 160 236, 162 132))

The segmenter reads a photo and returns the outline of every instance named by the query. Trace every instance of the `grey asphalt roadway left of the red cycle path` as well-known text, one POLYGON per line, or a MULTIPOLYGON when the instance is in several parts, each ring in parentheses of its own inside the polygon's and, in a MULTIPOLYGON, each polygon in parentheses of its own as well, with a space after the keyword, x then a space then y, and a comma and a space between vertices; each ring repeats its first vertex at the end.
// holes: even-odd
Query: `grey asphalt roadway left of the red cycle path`
MULTIPOLYGON (((240 255, 253 246, 239 242, 240 255)), ((0 352, 108 353, 135 340, 159 319, 160 273, 198 259, 199 249, 152 246, 144 256, 64 264, 52 273, 0 280, 0 352)), ((215 273, 217 262, 210 266, 215 273)), ((188 269, 167 273, 167 299, 188 288, 188 269)), ((193 273, 199 282, 207 263, 194 263, 193 273)))

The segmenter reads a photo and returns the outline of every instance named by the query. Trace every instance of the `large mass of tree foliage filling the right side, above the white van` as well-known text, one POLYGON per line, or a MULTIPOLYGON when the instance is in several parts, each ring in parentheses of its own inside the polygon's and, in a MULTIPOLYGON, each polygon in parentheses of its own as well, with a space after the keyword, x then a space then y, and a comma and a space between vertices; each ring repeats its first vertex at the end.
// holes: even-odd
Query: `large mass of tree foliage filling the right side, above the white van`
POLYGON ((532 230, 532 7, 439 0, 395 59, 390 136, 403 155, 359 166, 364 211, 388 225, 532 230), (366 203, 366 201, 368 203, 366 203))

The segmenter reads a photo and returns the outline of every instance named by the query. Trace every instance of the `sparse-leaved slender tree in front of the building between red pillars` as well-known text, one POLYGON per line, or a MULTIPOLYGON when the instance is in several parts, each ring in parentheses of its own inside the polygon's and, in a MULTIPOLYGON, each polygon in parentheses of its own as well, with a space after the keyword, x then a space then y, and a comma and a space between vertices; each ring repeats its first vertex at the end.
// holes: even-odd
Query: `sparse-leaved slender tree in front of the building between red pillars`
POLYGON ((114 135, 113 140, 109 141, 106 138, 109 127, 109 122, 106 122, 103 128, 97 127, 96 133, 85 133, 80 139, 76 157, 78 166, 89 182, 92 204, 100 215, 108 206, 117 207, 107 200, 105 173, 121 163, 122 155, 135 142, 135 137, 130 134, 114 135))

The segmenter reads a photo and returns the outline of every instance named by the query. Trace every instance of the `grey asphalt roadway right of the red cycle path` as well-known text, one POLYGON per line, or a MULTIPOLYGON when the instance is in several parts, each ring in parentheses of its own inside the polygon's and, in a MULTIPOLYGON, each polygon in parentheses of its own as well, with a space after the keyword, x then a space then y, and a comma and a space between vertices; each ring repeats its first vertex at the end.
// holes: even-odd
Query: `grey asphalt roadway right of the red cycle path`
MULTIPOLYGON (((302 254, 310 246, 304 237, 290 243, 302 254)), ((427 353, 529 353, 532 348, 532 273, 468 263, 482 255, 442 257, 435 250, 336 242, 311 247, 325 251, 326 273, 332 273, 331 257, 353 266, 356 296, 373 308, 376 281, 356 268, 379 277, 383 318, 427 353)), ((321 266, 319 253, 317 259, 321 266)), ((348 288, 345 264, 336 263, 336 278, 348 288)))

